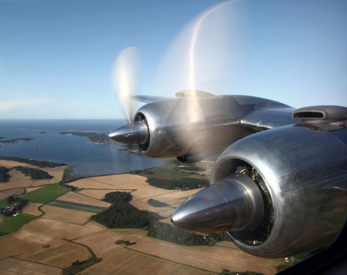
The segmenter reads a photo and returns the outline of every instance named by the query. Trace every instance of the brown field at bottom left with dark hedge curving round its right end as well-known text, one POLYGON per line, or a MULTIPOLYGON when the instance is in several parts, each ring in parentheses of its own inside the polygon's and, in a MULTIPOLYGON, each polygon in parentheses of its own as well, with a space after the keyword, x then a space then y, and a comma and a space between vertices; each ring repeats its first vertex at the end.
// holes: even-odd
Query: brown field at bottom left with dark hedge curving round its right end
POLYGON ((30 253, 20 254, 17 257, 58 268, 67 268, 71 266, 72 262, 85 261, 92 255, 86 247, 80 244, 61 240, 49 247, 42 247, 30 253))

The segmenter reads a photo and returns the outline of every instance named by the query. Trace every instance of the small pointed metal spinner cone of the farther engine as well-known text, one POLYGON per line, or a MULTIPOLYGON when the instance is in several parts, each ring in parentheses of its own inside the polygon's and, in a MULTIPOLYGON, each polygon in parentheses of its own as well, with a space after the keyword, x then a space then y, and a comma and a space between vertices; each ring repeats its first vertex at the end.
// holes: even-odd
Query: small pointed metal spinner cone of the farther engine
POLYGON ((148 127, 143 120, 137 120, 119 127, 109 137, 122 143, 144 144, 149 138, 148 127))

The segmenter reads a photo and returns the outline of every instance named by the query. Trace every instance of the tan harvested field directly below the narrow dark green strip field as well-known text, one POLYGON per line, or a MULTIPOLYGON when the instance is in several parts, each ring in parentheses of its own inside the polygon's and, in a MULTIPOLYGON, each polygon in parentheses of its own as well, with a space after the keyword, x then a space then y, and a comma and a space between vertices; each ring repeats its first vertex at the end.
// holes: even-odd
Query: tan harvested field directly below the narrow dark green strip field
POLYGON ((47 204, 41 207, 41 210, 45 212, 44 217, 46 219, 72 222, 76 224, 84 224, 91 216, 95 215, 95 213, 92 212, 77 211, 47 204))

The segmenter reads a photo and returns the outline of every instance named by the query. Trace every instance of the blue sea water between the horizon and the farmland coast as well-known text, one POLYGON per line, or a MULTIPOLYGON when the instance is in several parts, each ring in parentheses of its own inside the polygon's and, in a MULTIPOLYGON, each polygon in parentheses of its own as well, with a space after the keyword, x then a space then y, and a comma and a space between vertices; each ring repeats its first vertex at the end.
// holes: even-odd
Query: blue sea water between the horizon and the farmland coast
POLYGON ((116 174, 163 165, 159 159, 117 152, 119 146, 116 143, 95 144, 86 137, 58 134, 64 131, 111 133, 125 123, 119 120, 0 120, 0 136, 5 139, 34 139, 0 143, 0 156, 75 165, 72 174, 81 176, 116 174))

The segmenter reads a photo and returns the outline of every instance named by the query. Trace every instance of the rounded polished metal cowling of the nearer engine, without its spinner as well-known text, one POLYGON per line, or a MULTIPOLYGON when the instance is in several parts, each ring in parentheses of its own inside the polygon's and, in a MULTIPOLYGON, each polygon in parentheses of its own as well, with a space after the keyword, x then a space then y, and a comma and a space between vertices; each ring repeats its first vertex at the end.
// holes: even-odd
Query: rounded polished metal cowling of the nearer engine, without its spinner
POLYGON ((346 128, 326 131, 299 123, 253 134, 226 149, 216 161, 211 184, 240 165, 258 171, 264 184, 263 224, 228 232, 235 244, 268 258, 330 244, 347 213, 346 144, 346 128))

